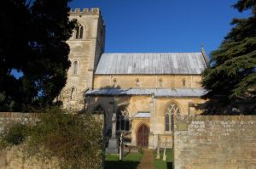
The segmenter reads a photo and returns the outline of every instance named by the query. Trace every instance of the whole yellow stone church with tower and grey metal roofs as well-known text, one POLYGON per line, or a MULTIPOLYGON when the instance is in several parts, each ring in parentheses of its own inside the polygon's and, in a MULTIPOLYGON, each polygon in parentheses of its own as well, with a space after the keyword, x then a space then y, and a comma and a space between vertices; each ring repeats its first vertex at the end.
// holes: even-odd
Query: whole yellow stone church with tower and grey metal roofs
POLYGON ((76 8, 67 84, 59 99, 67 110, 104 115, 104 134, 124 143, 172 147, 175 115, 199 115, 206 91, 203 48, 195 53, 104 53, 105 24, 99 8, 76 8))

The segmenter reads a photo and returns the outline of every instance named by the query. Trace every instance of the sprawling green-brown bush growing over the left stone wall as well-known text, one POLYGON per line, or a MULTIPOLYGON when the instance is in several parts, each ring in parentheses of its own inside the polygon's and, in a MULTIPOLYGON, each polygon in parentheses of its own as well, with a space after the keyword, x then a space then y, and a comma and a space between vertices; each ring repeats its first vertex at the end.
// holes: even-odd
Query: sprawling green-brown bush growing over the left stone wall
POLYGON ((4 132, 2 144, 24 143, 26 160, 58 161, 62 169, 100 168, 102 122, 93 115, 72 115, 59 109, 42 112, 38 118, 31 127, 17 124, 4 132))

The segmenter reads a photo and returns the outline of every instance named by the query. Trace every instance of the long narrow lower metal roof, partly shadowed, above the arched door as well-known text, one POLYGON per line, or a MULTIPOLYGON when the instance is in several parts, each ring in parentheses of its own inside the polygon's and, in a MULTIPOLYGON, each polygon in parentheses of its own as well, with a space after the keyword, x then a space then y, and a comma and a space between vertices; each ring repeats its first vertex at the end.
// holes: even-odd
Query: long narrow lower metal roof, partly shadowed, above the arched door
POLYGON ((122 95, 151 95, 156 97, 201 97, 206 93, 200 88, 101 88, 89 90, 84 93, 86 96, 122 96, 122 95))

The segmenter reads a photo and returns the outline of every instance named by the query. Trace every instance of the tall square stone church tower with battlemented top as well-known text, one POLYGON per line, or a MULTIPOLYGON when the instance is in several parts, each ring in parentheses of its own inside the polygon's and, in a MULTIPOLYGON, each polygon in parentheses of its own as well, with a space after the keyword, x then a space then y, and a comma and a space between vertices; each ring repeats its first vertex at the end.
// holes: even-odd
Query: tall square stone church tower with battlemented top
POLYGON ((70 12, 70 20, 76 19, 78 26, 67 41, 70 47, 71 67, 67 70, 67 84, 59 100, 67 110, 82 110, 84 92, 93 88, 96 65, 104 52, 105 25, 99 8, 76 8, 70 12))

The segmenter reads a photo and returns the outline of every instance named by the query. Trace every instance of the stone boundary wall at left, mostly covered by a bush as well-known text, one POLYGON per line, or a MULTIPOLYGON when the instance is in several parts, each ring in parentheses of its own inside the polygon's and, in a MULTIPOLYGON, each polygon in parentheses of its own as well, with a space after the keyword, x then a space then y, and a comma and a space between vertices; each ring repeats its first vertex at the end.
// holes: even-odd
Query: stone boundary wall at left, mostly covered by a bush
MULTIPOLYGON (((94 115, 96 121, 103 121, 103 115, 94 115)), ((38 121, 37 113, 20 113, 20 112, 0 112, 0 134, 4 129, 11 127, 15 123, 35 124, 38 121)), ((20 144, 13 146, 11 149, 0 149, 0 169, 57 169, 56 161, 38 161, 31 159, 25 161, 20 151, 24 146, 20 144)), ((102 161, 103 165, 103 161, 102 161)))

